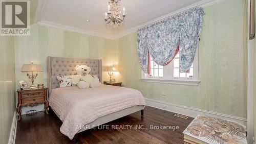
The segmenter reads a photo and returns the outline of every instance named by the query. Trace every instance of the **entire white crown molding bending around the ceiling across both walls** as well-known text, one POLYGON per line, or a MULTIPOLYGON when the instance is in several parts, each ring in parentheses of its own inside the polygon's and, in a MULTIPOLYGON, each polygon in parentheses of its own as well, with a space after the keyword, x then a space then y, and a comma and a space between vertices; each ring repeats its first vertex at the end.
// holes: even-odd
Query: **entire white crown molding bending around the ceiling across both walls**
POLYGON ((88 35, 102 37, 102 38, 107 38, 107 39, 117 39, 117 38, 129 35, 129 34, 135 33, 135 32, 137 32, 138 29, 140 29, 140 28, 142 28, 142 27, 144 27, 146 25, 149 25, 151 23, 157 22, 157 21, 162 20, 162 19, 164 19, 166 17, 169 17, 169 16, 174 16, 174 15, 176 15, 176 14, 182 12, 182 11, 185 11, 185 10, 188 10, 188 9, 191 9, 191 8, 195 8, 195 7, 198 7, 198 6, 205 8, 205 7, 209 7, 211 5, 214 5, 214 4, 220 3, 222 1, 226 1, 226 0, 202 0, 202 1, 198 2, 198 3, 189 5, 187 7, 184 7, 182 9, 179 9, 179 10, 174 11, 172 13, 169 13, 169 14, 163 15, 161 17, 155 18, 155 19, 153 19, 151 21, 142 23, 139 26, 133 27, 133 28, 131 28, 129 30, 126 30, 126 31, 124 31, 124 32, 122 32, 120 34, 116 34, 116 35, 102 34, 102 33, 87 31, 87 30, 76 28, 76 27, 72 27, 72 26, 62 25, 62 24, 56 23, 56 22, 51 22, 51 21, 47 21, 47 20, 40 20, 41 19, 41 15, 44 12, 45 5, 46 5, 47 1, 48 0, 39 0, 38 1, 38 6, 37 6, 37 10, 36 10, 36 17, 35 17, 35 23, 38 23, 39 25, 55 27, 55 28, 59 28, 59 29, 63 29, 63 30, 68 30, 68 31, 73 31, 73 32, 77 32, 77 33, 88 34, 88 35))

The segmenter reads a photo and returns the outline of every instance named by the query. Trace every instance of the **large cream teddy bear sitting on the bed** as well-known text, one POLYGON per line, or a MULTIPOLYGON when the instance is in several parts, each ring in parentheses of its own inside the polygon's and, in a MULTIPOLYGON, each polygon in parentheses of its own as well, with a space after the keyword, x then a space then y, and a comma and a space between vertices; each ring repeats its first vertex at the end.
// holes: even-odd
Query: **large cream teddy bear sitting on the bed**
POLYGON ((99 79, 96 76, 91 76, 89 73, 91 68, 87 65, 75 66, 77 75, 72 77, 72 85, 77 85, 79 88, 98 87, 99 79))

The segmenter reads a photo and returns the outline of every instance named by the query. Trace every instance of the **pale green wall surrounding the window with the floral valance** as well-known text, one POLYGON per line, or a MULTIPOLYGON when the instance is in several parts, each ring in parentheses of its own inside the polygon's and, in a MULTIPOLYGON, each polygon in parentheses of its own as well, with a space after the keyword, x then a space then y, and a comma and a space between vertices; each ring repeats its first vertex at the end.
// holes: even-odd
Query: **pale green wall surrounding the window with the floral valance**
POLYGON ((118 49, 96 51, 94 58, 111 57, 119 64, 118 81, 139 89, 145 98, 246 118, 246 14, 246 2, 240 0, 205 8, 198 49, 199 86, 141 82, 136 33, 114 40, 118 49))

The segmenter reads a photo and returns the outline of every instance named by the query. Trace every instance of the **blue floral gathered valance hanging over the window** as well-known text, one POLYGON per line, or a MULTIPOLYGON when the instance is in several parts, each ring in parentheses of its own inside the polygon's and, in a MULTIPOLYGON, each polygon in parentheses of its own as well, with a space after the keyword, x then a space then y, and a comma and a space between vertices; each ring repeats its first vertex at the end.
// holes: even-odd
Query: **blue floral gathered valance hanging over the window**
POLYGON ((180 72, 189 70, 196 54, 203 15, 203 8, 193 8, 139 29, 141 69, 150 73, 150 56, 157 64, 166 65, 180 52, 180 72))

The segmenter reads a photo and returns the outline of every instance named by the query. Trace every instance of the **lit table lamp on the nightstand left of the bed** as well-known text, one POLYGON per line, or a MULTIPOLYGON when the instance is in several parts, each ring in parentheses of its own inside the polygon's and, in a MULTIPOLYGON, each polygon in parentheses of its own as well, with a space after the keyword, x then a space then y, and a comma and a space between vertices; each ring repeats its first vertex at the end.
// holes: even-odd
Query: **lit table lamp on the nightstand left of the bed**
POLYGON ((24 64, 22 67, 22 72, 27 72, 27 76, 29 79, 31 79, 32 85, 30 86, 30 89, 35 89, 35 85, 34 85, 34 79, 36 79, 37 77, 37 72, 42 71, 42 67, 40 64, 33 64, 33 62, 31 64, 24 64), (29 75, 29 73, 31 72, 31 75, 29 75), (35 75, 33 74, 35 73, 35 75))

